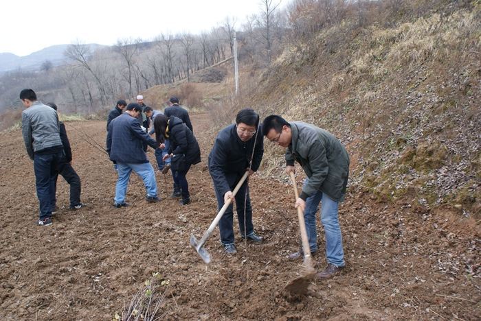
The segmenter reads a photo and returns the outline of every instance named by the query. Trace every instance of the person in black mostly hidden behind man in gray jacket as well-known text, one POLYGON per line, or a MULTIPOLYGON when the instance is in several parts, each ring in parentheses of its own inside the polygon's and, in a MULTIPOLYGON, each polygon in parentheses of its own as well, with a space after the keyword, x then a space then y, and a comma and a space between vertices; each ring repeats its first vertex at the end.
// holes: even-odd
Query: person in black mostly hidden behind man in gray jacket
MULTIPOLYGON (((47 106, 54 108, 57 111, 57 105, 54 103, 48 103, 47 106)), ((72 161, 72 151, 70 148, 69 138, 67 137, 67 130, 65 130, 65 124, 60 121, 60 139, 62 140, 63 145, 63 154, 60 158, 60 162, 58 162, 56 173, 54 175, 55 181, 55 190, 57 189, 57 178, 58 174, 60 174, 70 185, 70 210, 77 210, 82 209, 85 207, 85 204, 80 202, 80 191, 81 191, 81 183, 80 177, 76 173, 74 167, 71 166, 72 161)), ((57 213, 57 205, 56 205, 56 198, 55 193, 52 195, 50 199, 50 208, 52 209, 52 214, 57 213)))

